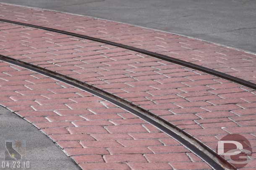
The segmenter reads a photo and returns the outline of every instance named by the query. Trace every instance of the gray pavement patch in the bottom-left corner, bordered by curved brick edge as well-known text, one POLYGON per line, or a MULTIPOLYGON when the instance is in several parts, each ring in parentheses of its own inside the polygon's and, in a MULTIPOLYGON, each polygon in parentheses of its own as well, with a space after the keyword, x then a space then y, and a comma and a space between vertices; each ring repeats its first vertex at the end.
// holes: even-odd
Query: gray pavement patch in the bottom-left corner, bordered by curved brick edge
POLYGON ((39 132, 36 127, 0 106, 0 170, 17 169, 80 170, 60 148, 39 132), (13 149, 21 155, 21 160, 10 160, 8 153, 6 156, 5 142, 7 141, 13 143, 13 149), (6 160, 6 158, 8 159, 6 160), (18 162, 20 162, 20 167, 18 167, 18 162), (26 168, 24 168, 24 162, 26 168))

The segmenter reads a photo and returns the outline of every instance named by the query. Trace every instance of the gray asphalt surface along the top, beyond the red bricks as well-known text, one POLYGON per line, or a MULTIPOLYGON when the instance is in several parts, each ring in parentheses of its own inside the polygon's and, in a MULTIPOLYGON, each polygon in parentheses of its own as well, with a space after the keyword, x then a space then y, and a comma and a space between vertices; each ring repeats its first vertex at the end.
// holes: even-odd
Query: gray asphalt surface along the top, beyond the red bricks
POLYGON ((256 53, 256 0, 0 0, 192 36, 256 53))

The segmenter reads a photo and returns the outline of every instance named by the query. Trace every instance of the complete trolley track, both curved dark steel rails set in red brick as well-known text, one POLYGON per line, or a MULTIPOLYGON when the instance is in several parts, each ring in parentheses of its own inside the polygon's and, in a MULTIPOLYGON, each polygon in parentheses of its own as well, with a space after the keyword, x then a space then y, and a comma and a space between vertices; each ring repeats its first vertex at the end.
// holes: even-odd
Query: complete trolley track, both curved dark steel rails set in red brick
MULTIPOLYGON (((5 22, 5 23, 13 23, 13 24, 17 24, 17 25, 24 25, 24 26, 28 26, 28 27, 33 27, 33 28, 38 28, 38 29, 42 29, 42 30, 52 31, 52 32, 55 32, 55 33, 61 33, 61 34, 74 36, 74 37, 78 37, 78 38, 84 38, 84 39, 87 39, 87 40, 96 41, 96 42, 100 42, 100 43, 105 43, 105 44, 109 44, 109 45, 112 45, 112 46, 128 49, 128 50, 131 50, 131 51, 136 51, 138 53, 143 53, 143 54, 146 54, 148 56, 152 56, 152 57, 155 57, 155 58, 162 59, 164 61, 168 61, 170 63, 179 64, 181 66, 185 66, 185 67, 188 67, 188 68, 191 68, 191 69, 196 69, 196 70, 205 72, 207 74, 218 76, 220 78, 227 79, 229 81, 233 81, 235 83, 241 84, 243 86, 247 86, 251 89, 256 89, 256 84, 253 84, 249 81, 239 79, 237 77, 230 76, 228 74, 224 74, 222 72, 215 71, 213 69, 208 69, 206 67, 199 66, 199 65, 196 65, 196 64, 193 64, 193 63, 189 63, 189 62, 186 62, 186 61, 183 61, 183 60, 180 60, 180 59, 176 59, 176 58, 165 56, 165 55, 162 55, 162 54, 159 54, 159 53, 154 53, 154 52, 151 52, 151 51, 147 51, 147 50, 144 50, 144 49, 135 48, 135 47, 132 47, 132 46, 127 46, 127 45, 124 45, 124 44, 115 43, 115 42, 112 42, 112 41, 106 41, 106 40, 102 40, 102 39, 99 39, 99 38, 85 36, 85 35, 72 33, 72 32, 68 32, 68 31, 42 27, 42 26, 38 26, 38 25, 20 23, 20 22, 11 21, 11 20, 4 20, 4 19, 0 19, 0 21, 5 22)), ((110 102, 116 104, 117 106, 119 106, 119 107, 121 107, 125 110, 128 110, 129 112, 132 112, 133 114, 136 114, 141 119, 144 119, 146 122, 149 122, 150 124, 153 124, 155 127, 159 128, 162 132, 165 132, 169 136, 173 137, 175 140, 177 140, 182 145, 184 145, 189 150, 191 150, 191 152, 193 152, 197 156, 201 157, 202 160, 207 162, 211 167, 213 167, 216 170, 221 170, 221 169, 226 169, 226 168, 236 169, 229 162, 227 162, 225 159, 223 159, 222 157, 217 155, 216 152, 211 150, 209 147, 204 145, 204 143, 200 142, 199 140, 197 140, 196 138, 194 138, 193 136, 191 136, 187 132, 183 131, 182 129, 175 126, 174 124, 166 121, 165 119, 157 116, 156 114, 153 114, 152 112, 149 112, 145 109, 142 109, 141 107, 138 107, 135 104, 132 104, 131 102, 126 101, 125 99, 122 99, 122 98, 120 98, 118 96, 115 96, 111 93, 108 93, 106 91, 103 91, 103 90, 101 90, 97 87, 86 84, 82 81, 78 81, 76 79, 73 79, 69 76, 65 76, 63 74, 59 74, 59 73, 56 73, 54 71, 50 71, 48 69, 43 69, 39 66, 34 66, 30 63, 26 63, 26 62, 19 61, 19 60, 16 60, 16 59, 13 59, 13 58, 10 58, 10 57, 7 57, 7 56, 2 56, 2 55, 0 55, 0 60, 8 62, 8 63, 15 64, 15 65, 18 65, 18 66, 22 66, 26 69, 30 69, 30 70, 36 71, 40 74, 50 76, 50 77, 52 77, 54 79, 57 79, 59 81, 63 81, 67 84, 71 84, 72 86, 76 86, 80 89, 88 91, 91 94, 99 96, 102 99, 110 101, 110 102)))

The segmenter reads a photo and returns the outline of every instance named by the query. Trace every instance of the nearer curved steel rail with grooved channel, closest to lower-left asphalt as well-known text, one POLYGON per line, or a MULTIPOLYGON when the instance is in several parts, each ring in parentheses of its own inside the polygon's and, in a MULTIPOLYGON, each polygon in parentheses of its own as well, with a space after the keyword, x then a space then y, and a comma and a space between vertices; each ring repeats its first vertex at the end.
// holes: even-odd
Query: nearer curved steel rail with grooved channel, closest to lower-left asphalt
POLYGON ((187 132, 183 131, 179 127, 174 124, 168 122, 167 120, 157 116, 156 114, 149 112, 141 107, 138 107, 135 104, 132 104, 125 99, 122 99, 118 96, 115 96, 111 93, 103 91, 99 88, 86 84, 82 81, 78 81, 69 76, 65 76, 63 74, 56 73, 54 71, 50 71, 48 69, 41 68, 39 66, 34 66, 33 64, 26 63, 24 61, 19 61, 17 59, 13 59, 7 56, 0 55, 0 60, 8 63, 15 64, 17 66, 24 67, 26 69, 30 69, 32 71, 36 71, 45 76, 50 76, 51 78, 57 79, 59 81, 63 81, 72 86, 76 86, 80 89, 83 89, 95 96, 98 96, 102 99, 110 101, 115 105, 135 114, 146 122, 153 124, 155 127, 160 129, 162 132, 165 132, 178 142, 180 142, 183 146, 191 150, 195 155, 199 156, 202 160, 208 163, 211 167, 216 170, 224 170, 226 168, 236 170, 236 168, 227 162, 223 157, 219 156, 212 149, 204 145, 204 143, 200 142, 187 132))

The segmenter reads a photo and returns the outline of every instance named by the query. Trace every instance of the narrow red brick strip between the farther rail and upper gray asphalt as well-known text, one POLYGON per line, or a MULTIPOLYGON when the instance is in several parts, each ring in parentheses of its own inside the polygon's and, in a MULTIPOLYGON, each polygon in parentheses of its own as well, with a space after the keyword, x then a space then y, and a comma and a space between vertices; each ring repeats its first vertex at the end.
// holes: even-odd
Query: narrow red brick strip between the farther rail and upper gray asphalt
POLYGON ((256 56, 193 38, 91 17, 0 4, 3 19, 67 30, 165 54, 256 83, 256 56))

